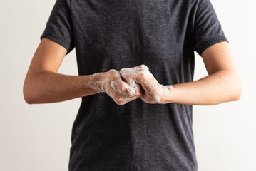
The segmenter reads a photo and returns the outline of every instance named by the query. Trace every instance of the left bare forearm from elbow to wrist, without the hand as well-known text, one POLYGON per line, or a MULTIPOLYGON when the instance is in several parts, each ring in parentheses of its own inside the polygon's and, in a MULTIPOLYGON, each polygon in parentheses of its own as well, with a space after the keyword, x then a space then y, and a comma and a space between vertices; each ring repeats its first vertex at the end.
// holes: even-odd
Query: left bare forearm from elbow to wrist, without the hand
POLYGON ((37 73, 24 82, 24 98, 27 103, 55 103, 71 100, 98 91, 91 87, 93 75, 67 76, 51 71, 37 73))

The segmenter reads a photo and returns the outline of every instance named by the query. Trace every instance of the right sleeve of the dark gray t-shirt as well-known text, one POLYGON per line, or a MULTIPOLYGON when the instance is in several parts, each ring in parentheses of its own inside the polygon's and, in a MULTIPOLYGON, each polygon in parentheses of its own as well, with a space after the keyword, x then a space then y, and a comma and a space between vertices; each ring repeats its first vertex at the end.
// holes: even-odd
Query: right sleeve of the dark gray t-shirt
POLYGON ((227 41, 210 0, 198 0, 194 31, 194 51, 200 56, 206 48, 227 41))

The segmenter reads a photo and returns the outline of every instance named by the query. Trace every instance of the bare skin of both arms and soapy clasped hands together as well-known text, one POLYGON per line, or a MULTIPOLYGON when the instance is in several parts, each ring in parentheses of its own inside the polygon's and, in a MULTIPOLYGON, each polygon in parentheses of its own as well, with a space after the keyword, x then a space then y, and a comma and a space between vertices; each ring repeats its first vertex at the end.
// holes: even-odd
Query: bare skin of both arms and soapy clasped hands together
POLYGON ((202 57, 209 76, 172 86, 163 86, 152 81, 150 74, 137 74, 128 78, 129 81, 122 81, 121 74, 115 70, 88 76, 57 73, 66 52, 66 48, 48 38, 41 40, 24 81, 26 103, 55 103, 100 92, 108 93, 118 105, 124 105, 136 98, 141 98, 145 103, 215 105, 238 100, 241 96, 240 76, 227 42, 216 43, 203 52, 202 57), (106 77, 110 80, 106 81, 106 77), (130 81, 139 83, 141 90, 131 90, 130 81), (153 95, 158 95, 160 100, 155 100, 153 95))

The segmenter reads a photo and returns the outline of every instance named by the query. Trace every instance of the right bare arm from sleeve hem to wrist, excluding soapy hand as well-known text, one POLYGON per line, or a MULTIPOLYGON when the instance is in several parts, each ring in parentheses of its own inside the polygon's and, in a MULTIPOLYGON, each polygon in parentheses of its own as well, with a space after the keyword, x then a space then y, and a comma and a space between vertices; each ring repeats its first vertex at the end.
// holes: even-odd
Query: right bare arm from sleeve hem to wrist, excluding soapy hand
POLYGON ((166 103, 216 105, 240 99, 242 86, 229 44, 216 43, 203 51, 202 57, 209 76, 173 85, 166 103))

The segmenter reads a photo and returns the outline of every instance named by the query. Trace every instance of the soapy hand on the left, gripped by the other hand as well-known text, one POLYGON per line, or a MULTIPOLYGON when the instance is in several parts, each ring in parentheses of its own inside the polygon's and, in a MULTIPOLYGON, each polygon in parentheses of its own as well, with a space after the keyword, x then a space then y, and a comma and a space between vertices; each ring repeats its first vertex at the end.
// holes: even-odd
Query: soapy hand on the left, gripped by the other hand
POLYGON ((135 100, 142 94, 139 85, 128 85, 114 69, 106 73, 93 74, 91 86, 94 90, 106 92, 118 105, 135 100))

